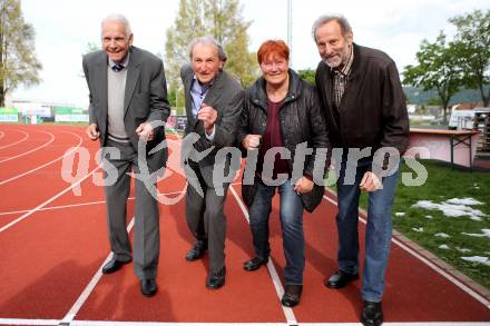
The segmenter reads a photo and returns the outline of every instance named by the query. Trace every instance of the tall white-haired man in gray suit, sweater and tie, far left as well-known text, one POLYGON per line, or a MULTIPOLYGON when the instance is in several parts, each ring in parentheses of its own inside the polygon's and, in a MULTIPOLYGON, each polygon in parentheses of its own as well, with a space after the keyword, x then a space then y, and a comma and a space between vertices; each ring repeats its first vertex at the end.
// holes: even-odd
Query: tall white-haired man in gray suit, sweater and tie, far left
POLYGON ((134 268, 141 293, 153 296, 160 247, 156 176, 161 175, 167 159, 166 147, 155 147, 165 140, 161 125, 170 112, 164 66, 154 55, 131 46, 133 33, 124 16, 107 17, 101 29, 102 50, 86 55, 82 65, 90 91, 87 135, 91 140, 99 139, 105 148, 107 220, 114 255, 102 273, 114 273, 131 261, 126 205, 133 169, 137 176, 134 268))

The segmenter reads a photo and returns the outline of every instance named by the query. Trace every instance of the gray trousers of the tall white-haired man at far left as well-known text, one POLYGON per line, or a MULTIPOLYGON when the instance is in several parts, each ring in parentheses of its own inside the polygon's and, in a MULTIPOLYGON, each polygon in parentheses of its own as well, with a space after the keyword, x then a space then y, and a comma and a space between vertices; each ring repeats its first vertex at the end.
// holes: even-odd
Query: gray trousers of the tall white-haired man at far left
MULTIPOLYGON (((130 189, 130 171, 139 174, 138 157, 130 144, 107 141, 107 147, 115 147, 120 158, 106 155, 105 176, 117 175, 115 184, 105 186, 107 200, 107 229, 110 249, 115 258, 121 261, 131 259, 131 245, 126 231, 127 200, 130 189)), ((160 250, 159 214, 156 185, 147 189, 145 184, 135 178, 135 231, 134 268, 139 279, 156 278, 160 250)))

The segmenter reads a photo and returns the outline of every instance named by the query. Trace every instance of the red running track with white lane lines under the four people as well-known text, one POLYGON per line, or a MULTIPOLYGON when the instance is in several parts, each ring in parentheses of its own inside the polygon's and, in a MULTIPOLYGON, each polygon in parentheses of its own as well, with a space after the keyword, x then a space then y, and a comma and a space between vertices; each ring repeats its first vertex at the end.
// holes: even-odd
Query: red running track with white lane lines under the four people
MULTIPOLYGON (((97 168, 92 158, 98 144, 87 140, 82 128, 77 127, 0 125, 0 161, 22 155, 0 162, 0 325, 357 323, 360 281, 342 290, 323 286, 324 277, 336 269, 336 206, 332 195, 325 195, 314 214, 304 216, 306 268, 297 307, 283 308, 277 295, 285 263, 278 198, 274 198, 271 216, 271 268, 255 273, 242 269, 253 248, 239 184, 232 186, 225 208, 225 287, 216 292, 205 288, 207 257, 195 263, 184 259, 193 239, 185 221, 184 200, 179 200, 175 205, 160 204, 159 292, 146 298, 139 293, 133 265, 114 275, 100 274, 109 255, 102 189, 88 176, 80 180, 81 196, 76 196, 71 185, 61 178, 62 156, 68 148, 81 146, 89 150, 91 172, 97 168), (1 184, 11 178, 16 179, 1 184), (275 273, 276 283, 271 276, 275 273)), ((171 149, 177 152, 175 147, 171 149)), ((168 197, 179 196, 185 178, 173 170, 158 189, 168 197)), ((130 200, 128 223, 133 214, 130 200)), ((364 225, 360 224, 362 241, 363 231, 364 225)), ((404 244, 399 244, 394 239, 388 270, 385 325, 490 322, 484 295, 474 293, 471 285, 458 286, 458 280, 441 275, 448 271, 437 271, 414 256, 422 255, 424 259, 423 253, 411 254, 401 247, 404 244)))

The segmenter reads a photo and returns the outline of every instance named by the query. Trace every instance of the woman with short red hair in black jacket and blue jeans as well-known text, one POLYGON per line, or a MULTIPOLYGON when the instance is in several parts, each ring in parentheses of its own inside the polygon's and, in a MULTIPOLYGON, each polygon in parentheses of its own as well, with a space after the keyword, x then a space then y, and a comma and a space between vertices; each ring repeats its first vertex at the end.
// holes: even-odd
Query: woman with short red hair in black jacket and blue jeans
POLYGON ((329 151, 317 165, 330 166, 330 142, 316 91, 290 69, 286 43, 265 41, 258 49, 257 59, 262 77, 246 90, 237 136, 248 158, 242 196, 248 207, 256 254, 244 263, 244 269, 256 270, 268 261, 268 217, 277 189, 286 258, 285 293, 281 303, 293 307, 300 303, 303 290, 303 209, 312 211, 322 200, 324 168, 320 169, 320 178, 314 178, 313 170, 318 148, 327 148, 329 151), (313 149, 313 154, 306 148, 313 149), (295 164, 296 157, 300 161, 295 164), (254 169, 255 172, 247 172, 254 169))

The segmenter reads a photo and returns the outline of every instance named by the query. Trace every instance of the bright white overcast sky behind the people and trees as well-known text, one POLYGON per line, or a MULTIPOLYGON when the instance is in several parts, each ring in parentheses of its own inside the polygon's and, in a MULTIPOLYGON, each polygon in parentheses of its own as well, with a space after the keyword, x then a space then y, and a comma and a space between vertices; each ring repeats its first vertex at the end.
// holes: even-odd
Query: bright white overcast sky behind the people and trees
MULTIPOLYGON (((88 105, 81 73, 81 55, 89 42, 99 42, 100 21, 111 12, 128 17, 134 45, 165 53, 165 32, 174 23, 178 0, 22 0, 24 20, 36 29, 36 52, 43 69, 39 86, 13 92, 14 99, 88 105)), ((266 39, 287 39, 286 0, 242 0, 251 51, 266 39)), ((311 37, 312 22, 322 13, 343 13, 354 41, 381 49, 399 70, 414 63, 422 39, 434 40, 442 29, 454 32, 448 19, 473 9, 487 10, 490 0, 293 0, 292 67, 316 68, 318 53, 311 37)))

